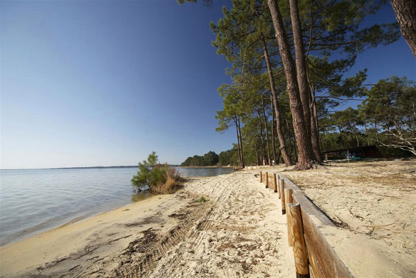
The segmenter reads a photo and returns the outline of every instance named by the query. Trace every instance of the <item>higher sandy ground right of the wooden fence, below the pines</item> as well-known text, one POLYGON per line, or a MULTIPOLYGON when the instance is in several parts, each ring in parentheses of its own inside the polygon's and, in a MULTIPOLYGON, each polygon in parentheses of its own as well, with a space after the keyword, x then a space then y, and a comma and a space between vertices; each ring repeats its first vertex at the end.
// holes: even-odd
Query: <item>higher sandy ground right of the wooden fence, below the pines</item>
POLYGON ((289 168, 264 171, 288 177, 337 224, 327 238, 356 277, 416 277, 415 159, 289 168))

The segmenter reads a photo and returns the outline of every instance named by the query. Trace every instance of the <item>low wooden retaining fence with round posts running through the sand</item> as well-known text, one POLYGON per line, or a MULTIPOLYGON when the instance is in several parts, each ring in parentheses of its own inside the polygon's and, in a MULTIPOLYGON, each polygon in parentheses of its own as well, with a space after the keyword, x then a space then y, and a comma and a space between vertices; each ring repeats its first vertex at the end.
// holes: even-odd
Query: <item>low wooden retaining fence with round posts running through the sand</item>
POLYGON ((354 278, 329 245, 322 229, 336 227, 284 175, 260 171, 260 182, 279 194, 281 212, 286 214, 288 245, 293 247, 296 277, 354 278))

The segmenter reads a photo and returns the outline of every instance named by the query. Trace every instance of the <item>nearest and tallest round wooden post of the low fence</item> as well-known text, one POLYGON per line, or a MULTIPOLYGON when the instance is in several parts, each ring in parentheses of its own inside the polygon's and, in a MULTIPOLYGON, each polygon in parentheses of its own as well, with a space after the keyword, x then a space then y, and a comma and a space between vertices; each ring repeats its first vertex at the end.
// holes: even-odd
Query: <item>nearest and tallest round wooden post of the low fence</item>
POLYGON ((306 244, 302 224, 302 214, 299 204, 288 204, 291 215, 291 227, 293 235, 293 256, 297 278, 309 278, 308 258, 306 257, 306 244))

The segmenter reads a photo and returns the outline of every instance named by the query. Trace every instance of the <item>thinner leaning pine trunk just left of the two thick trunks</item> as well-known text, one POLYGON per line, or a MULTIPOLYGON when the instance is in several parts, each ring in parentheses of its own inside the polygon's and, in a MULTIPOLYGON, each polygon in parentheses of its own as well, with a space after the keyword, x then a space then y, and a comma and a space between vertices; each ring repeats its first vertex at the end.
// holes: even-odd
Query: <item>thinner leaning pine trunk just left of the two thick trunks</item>
POLYGON ((283 156, 284 163, 286 166, 293 165, 293 162, 291 161, 291 157, 289 157, 288 152, 286 150, 286 146, 284 143, 284 136, 283 132, 281 130, 281 116, 280 116, 280 110, 279 110, 279 102, 277 101, 277 92, 275 87, 275 80, 273 78, 273 71, 270 64, 270 58, 268 56, 267 46, 266 46, 266 40, 264 40, 263 33, 261 33, 261 40, 263 42, 263 53, 264 53, 264 59, 266 60, 266 66, 268 71, 268 76, 270 80, 270 92, 272 92, 272 98, 273 98, 273 104, 275 107, 275 114, 276 114, 276 131, 277 131, 277 137, 279 138, 279 149, 281 150, 281 155, 283 156))

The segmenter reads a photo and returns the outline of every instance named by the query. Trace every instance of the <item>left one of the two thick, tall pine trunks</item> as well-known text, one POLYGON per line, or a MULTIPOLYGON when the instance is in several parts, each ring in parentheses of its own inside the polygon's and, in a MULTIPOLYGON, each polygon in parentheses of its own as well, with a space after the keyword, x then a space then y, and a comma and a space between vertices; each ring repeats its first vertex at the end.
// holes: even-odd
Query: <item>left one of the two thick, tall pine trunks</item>
MULTIPOLYGON (((283 63, 284 73, 286 75, 286 88, 291 103, 291 112, 293 117, 293 129, 295 130, 297 144, 297 164, 295 169, 306 170, 313 167, 313 151, 311 150, 311 137, 309 137, 302 102, 300 101, 299 87, 297 85, 296 69, 291 55, 291 48, 288 43, 286 32, 284 30, 283 20, 279 11, 276 0, 268 0, 270 15, 272 16, 273 26, 277 44, 279 44, 279 53, 283 63)), ((307 122, 309 125, 309 121, 307 122)))

